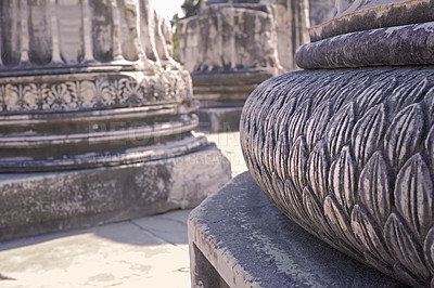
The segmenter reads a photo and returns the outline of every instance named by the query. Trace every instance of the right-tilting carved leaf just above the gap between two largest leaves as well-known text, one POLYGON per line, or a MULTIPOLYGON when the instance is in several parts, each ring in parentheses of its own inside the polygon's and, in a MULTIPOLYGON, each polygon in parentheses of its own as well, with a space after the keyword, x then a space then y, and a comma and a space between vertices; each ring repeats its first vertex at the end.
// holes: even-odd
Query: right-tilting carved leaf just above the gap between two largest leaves
POLYGON ((413 104, 396 115, 384 136, 384 150, 392 167, 400 168, 421 144, 424 113, 413 104))

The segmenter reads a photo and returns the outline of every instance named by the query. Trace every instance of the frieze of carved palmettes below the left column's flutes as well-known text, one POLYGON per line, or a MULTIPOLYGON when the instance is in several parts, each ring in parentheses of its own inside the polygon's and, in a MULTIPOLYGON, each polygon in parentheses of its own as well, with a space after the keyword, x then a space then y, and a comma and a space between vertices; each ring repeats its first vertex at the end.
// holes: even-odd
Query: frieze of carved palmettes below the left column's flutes
POLYGON ((18 82, 3 78, 0 80, 0 112, 128 107, 191 96, 191 82, 182 73, 164 71, 162 75, 144 77, 140 82, 129 76, 104 75, 67 81, 36 77, 34 82, 18 82), (165 79, 171 82, 163 81, 162 75, 167 75, 165 79))

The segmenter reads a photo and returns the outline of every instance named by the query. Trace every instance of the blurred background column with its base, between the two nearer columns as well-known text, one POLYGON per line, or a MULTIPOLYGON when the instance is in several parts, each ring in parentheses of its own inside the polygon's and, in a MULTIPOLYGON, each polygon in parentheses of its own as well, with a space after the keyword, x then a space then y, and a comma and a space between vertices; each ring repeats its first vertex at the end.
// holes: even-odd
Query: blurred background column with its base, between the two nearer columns
POLYGON ((293 54, 308 40, 307 8, 305 0, 207 1, 199 15, 180 22, 181 61, 201 102, 204 130, 238 130, 239 116, 225 109, 240 115, 258 83, 296 69, 293 54), (217 108, 224 108, 218 119, 217 108))

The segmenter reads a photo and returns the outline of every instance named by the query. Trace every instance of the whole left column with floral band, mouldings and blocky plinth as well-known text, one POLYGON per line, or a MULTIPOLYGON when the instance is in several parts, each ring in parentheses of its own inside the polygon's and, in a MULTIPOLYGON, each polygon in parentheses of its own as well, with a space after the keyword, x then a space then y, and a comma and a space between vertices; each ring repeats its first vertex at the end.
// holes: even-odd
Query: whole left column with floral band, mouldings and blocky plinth
POLYGON ((229 179, 191 133, 191 78, 148 0, 5 0, 0 13, 0 240, 191 207, 229 179), (216 179, 197 176, 213 161, 216 179))

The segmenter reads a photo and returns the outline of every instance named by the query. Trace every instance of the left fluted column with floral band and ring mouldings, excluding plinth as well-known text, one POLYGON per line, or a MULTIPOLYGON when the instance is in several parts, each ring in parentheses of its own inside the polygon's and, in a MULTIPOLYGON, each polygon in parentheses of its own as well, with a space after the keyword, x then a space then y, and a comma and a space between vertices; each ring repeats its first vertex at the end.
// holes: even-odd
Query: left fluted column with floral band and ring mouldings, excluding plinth
MULTIPOLYGON (((196 126, 194 104, 184 107, 188 74, 179 65, 166 70, 155 51, 165 40, 149 1, 2 1, 1 12, 1 171, 155 159, 164 154, 144 156, 149 145, 181 140, 196 126), (131 147, 141 153, 129 155, 131 147)), ((190 140, 173 153, 204 145, 190 140)))

